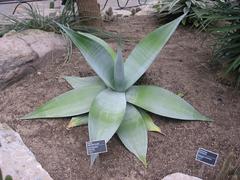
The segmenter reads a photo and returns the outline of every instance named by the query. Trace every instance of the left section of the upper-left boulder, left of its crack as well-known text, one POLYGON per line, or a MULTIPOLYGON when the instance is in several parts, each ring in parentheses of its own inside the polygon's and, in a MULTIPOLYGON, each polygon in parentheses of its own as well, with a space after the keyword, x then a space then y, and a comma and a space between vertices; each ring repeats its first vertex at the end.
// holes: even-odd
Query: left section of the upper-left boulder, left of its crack
POLYGON ((0 39, 0 90, 30 72, 38 54, 22 39, 12 36, 0 39))

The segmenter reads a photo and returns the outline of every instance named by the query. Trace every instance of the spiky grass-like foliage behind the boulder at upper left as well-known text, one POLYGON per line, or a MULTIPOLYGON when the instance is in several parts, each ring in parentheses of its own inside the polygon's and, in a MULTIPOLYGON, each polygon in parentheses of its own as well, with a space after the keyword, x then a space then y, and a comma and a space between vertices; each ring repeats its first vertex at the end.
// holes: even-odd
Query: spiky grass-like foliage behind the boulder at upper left
POLYGON ((28 18, 24 19, 6 16, 0 13, 0 15, 9 20, 9 23, 0 25, 0 37, 11 30, 18 32, 26 29, 40 29, 48 32, 61 33, 61 29, 56 25, 56 22, 71 27, 76 31, 88 32, 101 36, 102 38, 111 38, 115 36, 113 33, 83 25, 82 22, 86 21, 87 19, 83 20, 77 15, 77 12, 74 10, 73 3, 73 0, 68 0, 62 13, 53 17, 42 15, 38 8, 26 8, 25 11, 28 18))

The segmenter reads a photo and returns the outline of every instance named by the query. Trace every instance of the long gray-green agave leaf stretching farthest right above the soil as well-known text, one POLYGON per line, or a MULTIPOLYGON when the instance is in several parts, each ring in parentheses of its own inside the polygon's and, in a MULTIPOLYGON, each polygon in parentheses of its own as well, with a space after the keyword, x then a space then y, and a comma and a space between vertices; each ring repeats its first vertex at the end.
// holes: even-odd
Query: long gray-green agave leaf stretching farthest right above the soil
POLYGON ((157 86, 133 86, 126 93, 127 101, 152 113, 182 120, 210 119, 172 92, 157 86))

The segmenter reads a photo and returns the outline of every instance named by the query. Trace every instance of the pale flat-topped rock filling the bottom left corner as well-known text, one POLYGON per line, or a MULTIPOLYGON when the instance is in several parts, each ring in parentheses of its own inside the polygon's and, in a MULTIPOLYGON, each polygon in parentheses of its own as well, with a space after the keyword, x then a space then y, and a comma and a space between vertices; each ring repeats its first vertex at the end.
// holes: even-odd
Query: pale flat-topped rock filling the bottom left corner
POLYGON ((52 180, 20 135, 6 124, 0 124, 0 168, 3 177, 11 175, 18 180, 52 180))

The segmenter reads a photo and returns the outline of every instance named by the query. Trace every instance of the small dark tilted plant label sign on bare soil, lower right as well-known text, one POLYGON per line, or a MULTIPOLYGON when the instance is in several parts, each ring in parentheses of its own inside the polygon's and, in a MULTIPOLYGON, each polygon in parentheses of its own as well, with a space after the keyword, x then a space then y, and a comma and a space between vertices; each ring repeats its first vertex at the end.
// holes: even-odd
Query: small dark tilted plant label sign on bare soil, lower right
POLYGON ((215 166, 218 154, 204 148, 199 148, 196 154, 196 160, 209 166, 215 166))

